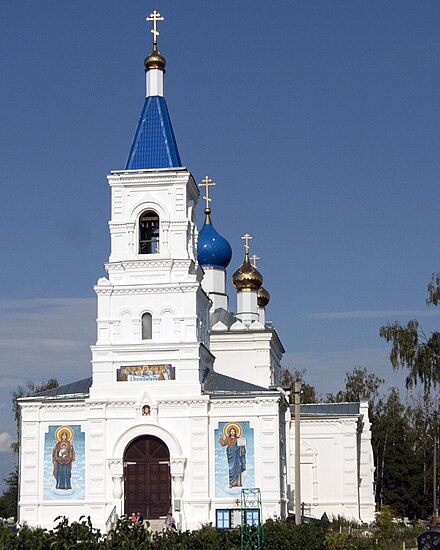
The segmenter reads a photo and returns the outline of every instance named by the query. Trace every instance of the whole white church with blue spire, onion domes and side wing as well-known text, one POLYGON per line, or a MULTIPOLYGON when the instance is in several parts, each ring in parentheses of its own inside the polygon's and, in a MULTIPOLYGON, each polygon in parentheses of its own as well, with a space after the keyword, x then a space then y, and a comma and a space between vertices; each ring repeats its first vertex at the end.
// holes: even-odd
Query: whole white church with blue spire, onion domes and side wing
MULTIPOLYGON (((199 186, 180 160, 150 18, 145 103, 125 168, 108 176, 91 377, 20 400, 19 521, 32 526, 86 515, 105 529, 123 514, 172 511, 181 529, 228 527, 255 488, 262 519, 293 510, 294 423, 269 294, 245 235, 230 309, 231 247, 212 224, 208 177, 197 225, 199 186)), ((374 519, 370 437, 365 404, 302 407, 307 515, 374 519)))

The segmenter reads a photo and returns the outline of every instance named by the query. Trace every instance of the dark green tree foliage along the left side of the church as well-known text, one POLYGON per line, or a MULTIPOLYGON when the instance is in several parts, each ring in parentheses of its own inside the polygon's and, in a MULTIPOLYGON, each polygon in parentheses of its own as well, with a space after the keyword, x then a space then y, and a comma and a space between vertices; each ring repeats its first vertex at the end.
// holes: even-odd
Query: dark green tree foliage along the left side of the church
POLYGON ((18 452, 20 449, 20 407, 18 400, 21 397, 29 397, 36 393, 40 393, 46 390, 51 390, 58 387, 58 381, 55 378, 50 378, 47 382, 41 384, 35 384, 34 382, 28 382, 25 386, 19 386, 16 391, 11 392, 12 396, 12 410, 14 413, 14 420, 17 430, 17 439, 11 444, 11 449, 16 455, 16 464, 14 470, 4 480, 6 488, 3 491, 3 495, 0 496, 0 516, 2 517, 16 517, 17 505, 18 505, 18 452))

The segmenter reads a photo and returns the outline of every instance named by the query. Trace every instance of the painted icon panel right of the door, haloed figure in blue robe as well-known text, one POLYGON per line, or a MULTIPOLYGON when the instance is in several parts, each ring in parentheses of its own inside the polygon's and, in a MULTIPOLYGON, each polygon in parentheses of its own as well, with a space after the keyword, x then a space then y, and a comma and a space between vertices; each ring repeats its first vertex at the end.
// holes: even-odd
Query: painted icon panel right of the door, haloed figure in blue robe
POLYGON ((236 495, 254 486, 254 430, 249 422, 220 422, 215 430, 217 496, 236 495))

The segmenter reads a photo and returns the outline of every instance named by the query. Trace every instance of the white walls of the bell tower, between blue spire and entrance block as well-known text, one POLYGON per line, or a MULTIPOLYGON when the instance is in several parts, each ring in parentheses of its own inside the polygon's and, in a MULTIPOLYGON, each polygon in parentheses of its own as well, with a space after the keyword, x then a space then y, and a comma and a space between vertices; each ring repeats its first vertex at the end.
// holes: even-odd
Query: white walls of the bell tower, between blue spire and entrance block
MULTIPOLYGON (((121 388, 115 367, 176 364, 175 395, 200 395, 200 379, 212 368, 208 351, 209 300, 195 263, 195 214, 198 189, 181 170, 112 172, 112 219, 108 279, 95 287, 98 339, 92 348, 91 398, 121 388), (152 211, 160 220, 157 252, 140 254, 139 220, 152 211), (142 317, 151 315, 151 338, 142 337, 142 317), (117 388, 117 389, 116 389, 117 388)), ((159 392, 165 391, 158 388, 159 392)), ((125 392, 127 393, 127 392, 125 392)))

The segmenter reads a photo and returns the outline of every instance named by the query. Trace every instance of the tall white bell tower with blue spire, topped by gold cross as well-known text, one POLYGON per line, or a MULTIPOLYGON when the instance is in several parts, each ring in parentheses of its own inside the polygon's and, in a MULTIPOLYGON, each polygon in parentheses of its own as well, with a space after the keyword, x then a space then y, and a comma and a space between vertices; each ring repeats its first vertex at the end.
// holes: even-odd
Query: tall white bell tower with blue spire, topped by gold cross
POLYGON ((196 263, 199 190, 182 166, 164 98, 166 61, 157 48, 145 59, 146 98, 124 170, 108 176, 111 252, 108 276, 95 286, 97 342, 90 397, 200 394, 209 352, 210 301, 196 263), (155 383, 157 382, 157 384, 155 383))

